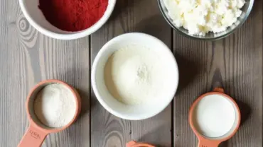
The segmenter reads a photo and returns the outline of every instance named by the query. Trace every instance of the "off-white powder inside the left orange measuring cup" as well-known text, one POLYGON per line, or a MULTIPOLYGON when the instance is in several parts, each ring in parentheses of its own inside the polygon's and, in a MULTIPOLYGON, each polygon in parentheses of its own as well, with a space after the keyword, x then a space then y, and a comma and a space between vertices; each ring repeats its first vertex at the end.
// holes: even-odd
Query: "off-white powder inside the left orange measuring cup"
POLYGON ((37 95, 34 111, 47 127, 64 127, 76 112, 76 101, 69 88, 59 83, 45 86, 37 95))

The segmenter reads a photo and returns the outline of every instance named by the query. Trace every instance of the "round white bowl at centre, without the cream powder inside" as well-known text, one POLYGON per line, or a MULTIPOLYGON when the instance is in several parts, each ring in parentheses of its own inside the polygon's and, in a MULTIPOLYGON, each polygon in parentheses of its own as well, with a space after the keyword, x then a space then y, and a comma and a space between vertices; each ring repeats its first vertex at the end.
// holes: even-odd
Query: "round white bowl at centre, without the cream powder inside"
POLYGON ((92 66, 91 74, 92 88, 100 104, 115 116, 130 120, 147 119, 161 112, 167 107, 167 105, 169 105, 171 100, 173 100, 173 96, 175 95, 178 86, 178 66, 173 53, 163 42, 161 42, 161 40, 144 33, 127 33, 114 37, 107 42, 97 54, 92 66), (167 86, 169 92, 163 95, 161 100, 153 98, 153 100, 149 100, 146 104, 126 105, 113 98, 107 90, 104 83, 104 66, 107 63, 107 59, 117 49, 131 44, 155 49, 156 52, 160 53, 160 56, 165 56, 166 60, 163 65, 168 65, 172 77, 171 86, 167 86))

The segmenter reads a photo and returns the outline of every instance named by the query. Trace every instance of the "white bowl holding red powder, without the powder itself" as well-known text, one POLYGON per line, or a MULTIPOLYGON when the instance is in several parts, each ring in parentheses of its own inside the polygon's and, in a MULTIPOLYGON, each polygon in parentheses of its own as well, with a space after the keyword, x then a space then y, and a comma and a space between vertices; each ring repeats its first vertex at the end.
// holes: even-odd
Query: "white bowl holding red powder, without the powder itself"
POLYGON ((77 38, 90 35, 100 29, 112 14, 115 3, 116 0, 109 0, 109 4, 102 18, 100 18, 100 20, 98 20, 97 23, 92 25, 90 28, 77 32, 68 32, 56 28, 45 19, 42 11, 38 8, 39 0, 19 0, 23 15, 26 17, 28 22, 36 28, 36 30, 44 35, 47 35, 48 37, 60 40, 75 40, 77 38))

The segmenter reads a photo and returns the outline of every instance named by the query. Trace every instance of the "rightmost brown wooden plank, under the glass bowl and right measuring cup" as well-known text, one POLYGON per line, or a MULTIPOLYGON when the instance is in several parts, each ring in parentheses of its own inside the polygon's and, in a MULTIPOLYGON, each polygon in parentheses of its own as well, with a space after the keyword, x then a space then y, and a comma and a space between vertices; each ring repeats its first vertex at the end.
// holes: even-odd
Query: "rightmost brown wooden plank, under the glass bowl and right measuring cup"
POLYGON ((255 1, 248 20, 234 34, 215 42, 173 35, 173 51, 181 73, 174 100, 175 146, 197 146, 188 124, 195 98, 215 87, 235 98, 242 113, 237 134, 220 146, 262 145, 262 0, 255 1))

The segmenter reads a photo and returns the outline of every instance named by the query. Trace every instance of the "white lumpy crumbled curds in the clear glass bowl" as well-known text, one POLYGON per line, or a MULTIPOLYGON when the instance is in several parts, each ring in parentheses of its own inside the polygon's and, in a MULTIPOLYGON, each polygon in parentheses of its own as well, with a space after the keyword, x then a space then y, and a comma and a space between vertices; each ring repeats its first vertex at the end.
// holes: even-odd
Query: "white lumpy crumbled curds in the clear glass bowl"
POLYGON ((163 0, 168 16, 191 35, 220 33, 240 17, 245 0, 163 0))

